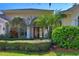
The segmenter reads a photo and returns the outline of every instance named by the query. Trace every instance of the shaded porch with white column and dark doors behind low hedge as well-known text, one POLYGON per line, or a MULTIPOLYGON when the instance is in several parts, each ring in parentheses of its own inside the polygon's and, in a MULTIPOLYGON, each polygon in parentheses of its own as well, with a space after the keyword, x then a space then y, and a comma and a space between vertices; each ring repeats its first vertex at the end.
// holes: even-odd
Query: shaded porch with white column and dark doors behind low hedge
POLYGON ((10 38, 48 39, 48 27, 27 26, 19 30, 11 29, 8 33, 10 38))

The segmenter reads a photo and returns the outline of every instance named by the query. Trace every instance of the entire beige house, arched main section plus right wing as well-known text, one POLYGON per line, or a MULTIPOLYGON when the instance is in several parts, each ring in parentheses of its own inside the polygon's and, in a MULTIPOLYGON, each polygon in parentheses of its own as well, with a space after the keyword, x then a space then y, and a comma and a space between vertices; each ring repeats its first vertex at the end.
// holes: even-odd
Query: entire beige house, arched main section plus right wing
MULTIPOLYGON (((21 17, 27 26, 20 29, 22 34, 19 34, 19 38, 48 38, 48 28, 38 27, 33 24, 33 21, 40 15, 50 14, 52 12, 53 10, 43 9, 12 9, 0 11, 0 35, 10 34, 11 28, 6 26, 6 23, 9 23, 15 17, 21 17)), ((79 4, 74 4, 71 8, 62 11, 62 13, 67 15, 67 17, 62 19, 62 25, 79 26, 79 4)))

